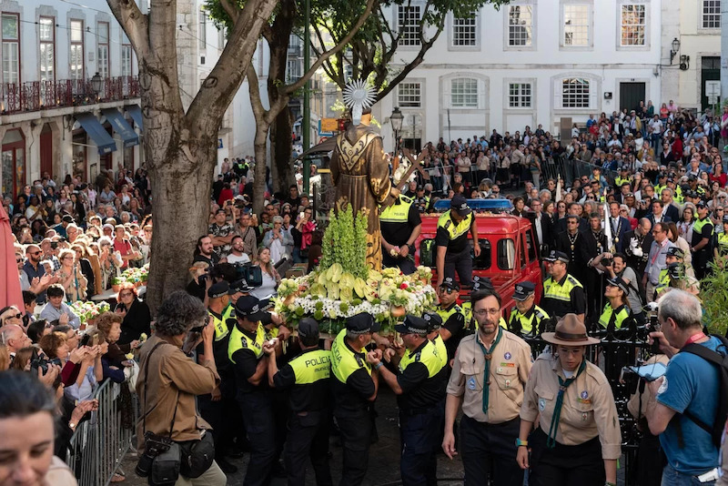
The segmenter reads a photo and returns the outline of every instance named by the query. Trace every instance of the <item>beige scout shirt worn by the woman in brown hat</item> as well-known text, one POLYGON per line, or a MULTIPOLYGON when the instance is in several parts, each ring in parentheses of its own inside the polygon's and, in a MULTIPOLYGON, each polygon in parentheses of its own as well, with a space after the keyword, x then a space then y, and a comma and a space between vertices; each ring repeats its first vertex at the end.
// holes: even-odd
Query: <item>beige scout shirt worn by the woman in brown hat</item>
MULTIPOLYGON (((576 371, 574 371, 576 373, 576 371)), ((542 353, 533 363, 521 407, 521 420, 535 421, 544 433, 551 427, 553 409, 559 394, 559 377, 566 377, 561 363, 551 353, 542 353)), ((599 436, 603 459, 619 459, 622 454, 617 407, 612 387, 602 370, 591 362, 564 392, 556 441, 579 445, 599 436)))

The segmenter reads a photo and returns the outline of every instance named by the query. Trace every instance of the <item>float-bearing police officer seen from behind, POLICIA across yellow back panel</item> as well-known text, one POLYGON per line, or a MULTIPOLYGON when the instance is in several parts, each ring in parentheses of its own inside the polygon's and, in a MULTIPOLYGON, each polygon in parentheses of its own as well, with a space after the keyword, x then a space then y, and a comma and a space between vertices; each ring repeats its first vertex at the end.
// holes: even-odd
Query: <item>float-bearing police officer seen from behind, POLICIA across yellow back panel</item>
POLYGON ((263 345, 268 354, 268 384, 290 390, 286 473, 289 486, 306 482, 306 463, 310 457, 319 486, 330 486, 329 470, 329 397, 331 351, 319 349, 319 323, 310 318, 298 322, 301 352, 278 370, 275 352, 280 345, 263 345))

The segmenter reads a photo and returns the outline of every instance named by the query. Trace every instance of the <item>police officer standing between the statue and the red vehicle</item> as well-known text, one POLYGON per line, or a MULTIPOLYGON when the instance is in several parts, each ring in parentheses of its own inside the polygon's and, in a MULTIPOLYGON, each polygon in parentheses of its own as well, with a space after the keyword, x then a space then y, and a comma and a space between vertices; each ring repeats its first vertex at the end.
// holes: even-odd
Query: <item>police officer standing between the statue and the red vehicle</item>
POLYGON ((415 241, 422 230, 420 212, 410 197, 399 195, 379 216, 382 265, 398 267, 403 274, 415 272, 415 241))

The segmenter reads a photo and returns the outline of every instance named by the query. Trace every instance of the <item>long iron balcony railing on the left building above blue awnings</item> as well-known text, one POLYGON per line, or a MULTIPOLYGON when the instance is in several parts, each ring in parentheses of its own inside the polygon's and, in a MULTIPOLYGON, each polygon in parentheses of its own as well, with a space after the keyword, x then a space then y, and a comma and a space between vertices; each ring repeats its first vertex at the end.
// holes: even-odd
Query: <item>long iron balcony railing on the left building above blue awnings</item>
POLYGON ((4 115, 66 106, 122 101, 139 96, 136 76, 106 77, 96 92, 90 79, 59 79, 0 85, 0 112, 4 115))

